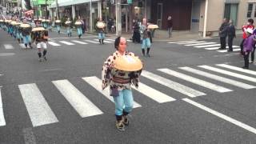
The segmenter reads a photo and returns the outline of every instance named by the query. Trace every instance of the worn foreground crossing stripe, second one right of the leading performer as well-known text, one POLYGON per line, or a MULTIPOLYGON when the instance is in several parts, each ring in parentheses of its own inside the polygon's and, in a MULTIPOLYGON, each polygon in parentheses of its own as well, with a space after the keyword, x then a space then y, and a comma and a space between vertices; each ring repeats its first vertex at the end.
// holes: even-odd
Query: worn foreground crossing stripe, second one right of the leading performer
POLYGON ((162 84, 163 86, 167 86, 170 89, 176 90, 182 94, 186 94, 187 96, 192 97, 192 98, 206 95, 205 93, 202 93, 201 91, 194 90, 190 87, 179 84, 178 82, 171 81, 170 79, 162 78, 161 76, 158 76, 157 74, 150 73, 146 70, 142 71, 142 76, 145 78, 149 78, 150 80, 152 80, 154 82, 158 82, 158 83, 162 84))

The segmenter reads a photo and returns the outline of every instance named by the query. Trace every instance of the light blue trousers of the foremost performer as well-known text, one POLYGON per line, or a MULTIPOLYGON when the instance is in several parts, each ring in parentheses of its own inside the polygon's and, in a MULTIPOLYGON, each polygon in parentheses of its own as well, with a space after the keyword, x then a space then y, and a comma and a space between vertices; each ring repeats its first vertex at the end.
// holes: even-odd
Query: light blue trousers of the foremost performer
POLYGON ((113 98, 115 105, 115 115, 122 115, 123 110, 125 110, 127 113, 130 113, 130 111, 133 109, 134 97, 131 90, 118 90, 118 96, 113 98))

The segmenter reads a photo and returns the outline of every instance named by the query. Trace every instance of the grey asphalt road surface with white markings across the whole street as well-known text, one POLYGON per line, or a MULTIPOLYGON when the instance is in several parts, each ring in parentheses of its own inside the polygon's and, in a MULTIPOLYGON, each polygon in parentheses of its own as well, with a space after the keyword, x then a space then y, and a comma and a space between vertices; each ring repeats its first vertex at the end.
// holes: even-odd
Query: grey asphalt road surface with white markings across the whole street
MULTIPOLYGON (((53 32, 50 38, 48 60, 38 62, 35 48, 22 49, 0 30, 1 144, 256 143, 256 66, 250 64, 252 71, 222 67, 243 66, 238 52, 185 46, 193 42, 154 42, 151 57, 143 58, 141 45, 129 42, 128 50, 142 58, 146 70, 141 87, 148 87, 143 89, 146 93, 134 90, 140 106, 130 114, 130 126, 118 131, 114 103, 91 86, 101 78, 102 62, 114 52, 113 42, 92 43, 96 37, 89 34, 78 39, 53 32), (172 71, 166 74, 168 70, 172 71), (94 109, 83 114, 84 105, 81 110, 76 107, 79 102, 94 109)), ((218 38, 199 41, 219 43, 218 38)), ((240 41, 235 39, 234 45, 240 41)), ((212 47, 216 46, 206 48, 212 47)))

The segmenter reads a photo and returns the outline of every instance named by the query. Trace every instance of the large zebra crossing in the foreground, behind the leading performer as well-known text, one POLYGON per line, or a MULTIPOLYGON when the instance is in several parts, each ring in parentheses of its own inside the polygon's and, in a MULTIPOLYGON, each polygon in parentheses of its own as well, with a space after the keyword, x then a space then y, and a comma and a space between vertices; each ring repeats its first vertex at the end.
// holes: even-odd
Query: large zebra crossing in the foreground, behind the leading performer
MULTIPOLYGON (((142 82, 139 82, 138 89, 134 86, 132 88, 138 92, 136 94, 142 94, 142 96, 151 99, 152 102, 162 104, 164 102, 177 101, 177 97, 180 97, 179 94, 183 95, 183 97, 194 98, 207 96, 211 93, 229 93, 237 90, 236 88, 244 90, 255 89, 255 75, 256 71, 243 70, 237 66, 227 64, 182 66, 177 68, 164 67, 154 72, 143 70, 142 82), (204 79, 202 80, 202 78, 204 79), (155 83, 156 85, 146 85, 145 80, 146 82, 151 81, 150 84, 155 83), (190 85, 190 83, 194 85, 190 85), (222 83, 225 85, 222 86, 222 83), (168 91, 159 91, 159 85, 166 87, 168 90, 176 91, 176 93, 179 94, 172 95, 172 93, 168 91), (174 96, 175 98, 173 98, 174 96)), ((94 97, 102 96, 102 101, 108 101, 114 104, 114 99, 110 96, 109 88, 102 90, 102 80, 100 78, 90 76, 78 79, 81 79, 82 82, 88 84, 86 86, 90 86, 96 91, 90 91, 84 94, 84 92, 80 91, 79 88, 68 79, 54 80, 49 83, 53 84, 54 90, 58 91, 58 94, 62 96, 61 98, 70 104, 70 109, 74 109, 81 118, 104 114, 104 110, 102 106, 100 106, 101 104, 98 104, 98 106, 95 105, 94 102, 90 100, 88 94, 93 94, 94 97)), ((8 111, 4 110, 2 106, 2 97, 5 97, 5 95, 1 95, 3 88, 4 86, 0 86, 0 127, 8 124, 8 121, 5 119, 5 114, 7 114, 8 111)), ((44 89, 44 87, 42 87, 42 89, 44 89)), ((20 84, 17 90, 21 94, 23 100, 22 105, 26 107, 32 126, 43 126, 62 121, 58 119, 58 113, 56 113, 58 110, 53 110, 54 108, 50 107, 48 104, 47 101, 51 101, 51 99, 49 97, 47 97, 47 99, 45 98, 46 96, 41 92, 44 90, 39 90, 36 83, 20 84), (55 111, 55 113, 53 111, 55 111)), ((134 97, 136 97, 136 95, 134 95, 134 97)), ((50 103, 52 104, 53 102, 50 103)), ((140 108, 144 105, 140 104, 140 102, 134 102, 134 108, 140 108)))

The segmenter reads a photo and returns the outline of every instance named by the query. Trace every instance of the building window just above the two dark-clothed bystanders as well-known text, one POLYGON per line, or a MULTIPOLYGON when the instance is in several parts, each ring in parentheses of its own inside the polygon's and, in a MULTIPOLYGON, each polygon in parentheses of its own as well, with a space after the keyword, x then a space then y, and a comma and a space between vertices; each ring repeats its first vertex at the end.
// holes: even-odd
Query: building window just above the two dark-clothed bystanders
POLYGON ((237 16, 238 16, 238 3, 226 3, 224 18, 231 19, 234 22, 234 25, 236 26, 237 16))

